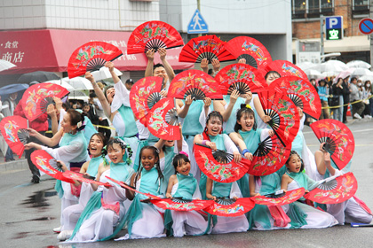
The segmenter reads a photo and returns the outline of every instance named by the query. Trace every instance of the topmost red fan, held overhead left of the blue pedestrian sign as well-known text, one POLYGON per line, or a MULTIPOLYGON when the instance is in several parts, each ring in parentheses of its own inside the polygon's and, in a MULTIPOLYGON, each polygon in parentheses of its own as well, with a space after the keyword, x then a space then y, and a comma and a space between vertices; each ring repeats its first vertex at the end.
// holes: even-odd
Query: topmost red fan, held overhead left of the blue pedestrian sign
POLYGON ((132 31, 127 43, 127 54, 143 53, 158 48, 183 46, 179 32, 170 24, 159 20, 147 21, 132 31))

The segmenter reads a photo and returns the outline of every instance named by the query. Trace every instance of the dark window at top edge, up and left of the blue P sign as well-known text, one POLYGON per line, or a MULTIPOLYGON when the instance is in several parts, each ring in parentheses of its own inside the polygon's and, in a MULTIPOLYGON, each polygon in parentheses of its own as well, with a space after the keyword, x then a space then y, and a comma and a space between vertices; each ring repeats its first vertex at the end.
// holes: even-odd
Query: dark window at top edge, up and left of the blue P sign
POLYGON ((293 19, 318 18, 334 12, 333 0, 292 0, 291 4, 293 19))

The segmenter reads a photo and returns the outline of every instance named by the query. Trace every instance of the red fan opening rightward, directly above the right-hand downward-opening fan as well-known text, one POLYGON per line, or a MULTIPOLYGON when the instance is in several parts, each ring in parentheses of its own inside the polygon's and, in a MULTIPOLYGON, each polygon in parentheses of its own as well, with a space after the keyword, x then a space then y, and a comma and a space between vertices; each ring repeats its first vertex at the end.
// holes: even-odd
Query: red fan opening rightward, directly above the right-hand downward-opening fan
POLYGON ((299 114, 296 105, 281 89, 258 92, 260 103, 266 115, 272 118, 267 124, 274 129, 284 146, 293 142, 298 134, 299 114))

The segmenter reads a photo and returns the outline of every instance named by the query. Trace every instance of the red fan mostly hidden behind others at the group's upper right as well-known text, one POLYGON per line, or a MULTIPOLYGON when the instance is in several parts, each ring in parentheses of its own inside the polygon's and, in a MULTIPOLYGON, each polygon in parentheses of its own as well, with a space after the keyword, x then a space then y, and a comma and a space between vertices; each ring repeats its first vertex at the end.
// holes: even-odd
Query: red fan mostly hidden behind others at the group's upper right
POLYGON ((276 71, 277 73, 281 74, 282 77, 296 76, 303 79, 308 79, 306 73, 302 71, 301 68, 287 60, 274 60, 271 63, 268 63, 266 66, 266 72, 269 71, 276 71))

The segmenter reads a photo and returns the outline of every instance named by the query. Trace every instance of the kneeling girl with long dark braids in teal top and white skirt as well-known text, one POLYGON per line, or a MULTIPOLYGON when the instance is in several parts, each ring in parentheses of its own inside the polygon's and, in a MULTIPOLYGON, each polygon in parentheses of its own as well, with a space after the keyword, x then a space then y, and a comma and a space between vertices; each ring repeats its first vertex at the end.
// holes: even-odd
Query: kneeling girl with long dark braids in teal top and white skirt
MULTIPOLYGON (((145 146, 139 152, 141 166, 131 178, 131 186, 136 190, 150 193, 155 196, 164 196, 167 185, 164 183, 163 174, 159 167, 159 151, 154 146, 145 146)), ((163 218, 149 198, 127 190, 127 197, 132 201, 124 222, 128 226, 128 234, 117 239, 151 238, 165 236, 163 234, 163 218)))

